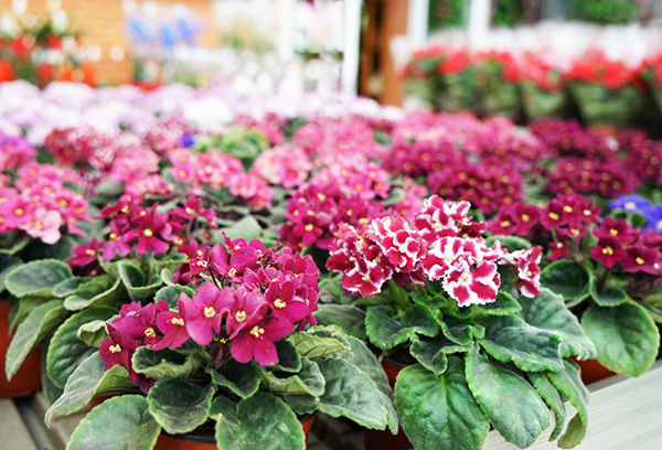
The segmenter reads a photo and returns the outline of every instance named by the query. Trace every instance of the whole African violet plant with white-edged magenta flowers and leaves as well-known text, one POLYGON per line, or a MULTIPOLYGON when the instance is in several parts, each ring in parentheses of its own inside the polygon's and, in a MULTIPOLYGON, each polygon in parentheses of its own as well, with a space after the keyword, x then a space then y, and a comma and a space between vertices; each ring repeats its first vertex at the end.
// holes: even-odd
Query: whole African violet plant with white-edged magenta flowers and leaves
POLYGON ((551 426, 548 408, 554 440, 564 397, 578 415, 558 446, 574 447, 586 433, 588 392, 570 357, 595 357, 595 346, 563 297, 540 289, 542 249, 488 246, 487 224, 473 222, 469 207, 433 196, 412 222, 341 225, 327 267, 366 297, 322 306, 317 317, 364 332, 383 356, 407 365, 395 406, 416 449, 480 449, 490 425, 525 448, 551 426))

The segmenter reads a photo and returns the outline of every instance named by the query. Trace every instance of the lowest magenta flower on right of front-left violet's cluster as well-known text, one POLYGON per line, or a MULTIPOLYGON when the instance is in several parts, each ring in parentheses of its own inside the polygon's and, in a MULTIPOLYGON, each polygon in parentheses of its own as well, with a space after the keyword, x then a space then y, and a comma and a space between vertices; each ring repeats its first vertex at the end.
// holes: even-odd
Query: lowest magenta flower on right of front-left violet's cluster
POLYGON ((252 324, 249 330, 239 333, 229 347, 229 353, 239 363, 255 358, 264 366, 278 363, 278 352, 274 342, 291 333, 292 323, 284 318, 273 317, 261 323, 252 324))

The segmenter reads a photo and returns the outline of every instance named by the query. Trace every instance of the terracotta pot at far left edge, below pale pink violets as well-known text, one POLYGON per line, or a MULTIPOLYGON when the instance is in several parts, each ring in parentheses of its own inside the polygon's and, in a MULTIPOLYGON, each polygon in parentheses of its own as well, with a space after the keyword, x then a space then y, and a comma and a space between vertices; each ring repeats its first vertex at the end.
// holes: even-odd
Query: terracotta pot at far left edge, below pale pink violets
POLYGON ((34 349, 28 354, 21 368, 7 381, 4 374, 4 357, 11 338, 9 336, 9 301, 0 300, 0 398, 24 397, 41 390, 41 347, 34 349))

